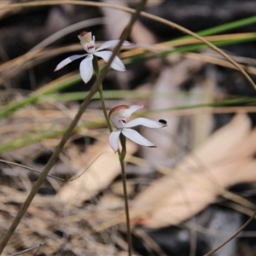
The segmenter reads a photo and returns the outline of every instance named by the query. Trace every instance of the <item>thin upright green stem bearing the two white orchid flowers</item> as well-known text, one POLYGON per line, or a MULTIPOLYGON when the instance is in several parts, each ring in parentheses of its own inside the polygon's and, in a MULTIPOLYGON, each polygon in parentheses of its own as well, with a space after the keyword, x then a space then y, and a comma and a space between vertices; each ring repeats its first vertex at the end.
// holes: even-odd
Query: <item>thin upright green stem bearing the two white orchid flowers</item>
MULTIPOLYGON (((100 74, 100 69, 99 69, 96 56, 93 56, 92 63, 93 63, 94 72, 96 73, 96 77, 98 77, 100 74)), ((104 116, 108 125, 108 129, 110 132, 112 132, 113 129, 112 129, 110 120, 108 118, 105 99, 103 96, 102 84, 99 85, 98 91, 99 91, 101 102, 102 102, 102 111, 104 113, 104 116)), ((122 183, 123 183, 124 198, 125 198, 125 218, 126 218, 126 229, 127 229, 128 255, 131 256, 131 223, 130 223, 129 201, 128 201, 128 193, 127 193, 127 185, 126 185, 126 173, 125 173, 126 138, 122 133, 120 134, 120 143, 122 146, 122 151, 120 152, 120 150, 118 150, 118 154, 119 154, 119 162, 121 166, 122 183)))

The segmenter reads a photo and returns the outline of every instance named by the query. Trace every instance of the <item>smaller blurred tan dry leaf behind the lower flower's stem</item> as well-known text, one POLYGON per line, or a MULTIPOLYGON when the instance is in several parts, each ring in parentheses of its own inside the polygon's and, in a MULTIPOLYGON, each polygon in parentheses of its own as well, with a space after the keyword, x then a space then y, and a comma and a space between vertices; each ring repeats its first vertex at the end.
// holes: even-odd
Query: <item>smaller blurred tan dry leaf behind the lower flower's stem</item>
MULTIPOLYGON (((127 154, 134 154, 136 150, 137 145, 127 141, 127 154)), ((93 163, 81 177, 66 183, 56 195, 59 201, 70 205, 80 206, 83 201, 107 188, 120 173, 119 157, 113 154, 107 137, 92 145, 89 153, 76 155, 72 161, 78 173, 84 172, 84 169, 93 163)))

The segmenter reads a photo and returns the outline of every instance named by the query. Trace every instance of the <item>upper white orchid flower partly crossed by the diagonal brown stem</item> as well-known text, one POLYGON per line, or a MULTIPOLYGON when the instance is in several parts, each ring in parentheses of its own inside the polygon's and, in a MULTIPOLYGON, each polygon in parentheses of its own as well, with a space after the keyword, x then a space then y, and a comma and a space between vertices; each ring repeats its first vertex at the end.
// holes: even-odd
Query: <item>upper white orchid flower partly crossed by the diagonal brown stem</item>
MULTIPOLYGON (((102 50, 102 49, 116 46, 119 43, 119 40, 107 41, 103 43, 99 48, 96 49, 95 36, 92 36, 91 32, 81 32, 79 34, 79 39, 80 39, 80 43, 84 46, 84 50, 87 52, 87 54, 72 55, 70 57, 67 57, 67 59, 61 61, 57 65, 57 67, 55 68, 55 71, 61 69, 62 67, 65 67, 67 64, 69 64, 72 61, 85 57, 84 60, 81 61, 80 63, 80 74, 81 74, 81 78, 84 80, 84 83, 87 84, 93 75, 93 65, 92 65, 93 55, 96 55, 97 57, 101 57, 104 61, 108 62, 108 60, 112 55, 112 52, 110 50, 102 50)), ((131 44, 128 41, 125 41, 122 45, 131 46, 133 44, 131 44)), ((119 59, 118 56, 114 57, 110 67, 118 71, 125 71, 125 65, 119 59)))

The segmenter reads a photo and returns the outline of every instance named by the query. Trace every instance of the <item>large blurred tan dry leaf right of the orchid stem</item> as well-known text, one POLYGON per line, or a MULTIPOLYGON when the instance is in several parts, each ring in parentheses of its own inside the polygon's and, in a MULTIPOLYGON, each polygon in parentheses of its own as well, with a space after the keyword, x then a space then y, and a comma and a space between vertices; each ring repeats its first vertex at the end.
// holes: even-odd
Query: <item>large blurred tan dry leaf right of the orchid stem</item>
POLYGON ((152 183, 132 202, 134 223, 149 228, 179 224, 200 212, 235 183, 256 180, 256 130, 237 114, 189 154, 170 175, 152 183))

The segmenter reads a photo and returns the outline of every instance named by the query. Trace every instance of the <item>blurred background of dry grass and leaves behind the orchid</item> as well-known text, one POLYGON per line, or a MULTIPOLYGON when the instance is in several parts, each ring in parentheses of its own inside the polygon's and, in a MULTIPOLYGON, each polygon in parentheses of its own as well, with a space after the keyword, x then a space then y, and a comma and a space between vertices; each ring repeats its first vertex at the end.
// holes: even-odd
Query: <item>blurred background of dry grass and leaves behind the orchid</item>
MULTIPOLYGON (((131 17, 125 8, 139 2, 0 2, 0 239, 95 81, 84 84, 79 61, 54 72, 56 65, 84 53, 82 31, 97 45, 119 38, 131 17)), ((128 38, 135 45, 119 54, 127 72, 109 70, 103 81, 108 110, 143 104, 134 116, 168 123, 137 127, 157 148, 127 142, 134 255, 203 255, 256 210, 255 88, 168 20, 217 45, 256 82, 256 4, 148 0, 144 12, 128 38)), ((3 255, 44 241, 23 255, 127 254, 108 136, 96 94, 3 255)), ((253 220, 213 255, 255 255, 255 229, 253 220)))

